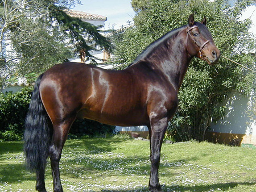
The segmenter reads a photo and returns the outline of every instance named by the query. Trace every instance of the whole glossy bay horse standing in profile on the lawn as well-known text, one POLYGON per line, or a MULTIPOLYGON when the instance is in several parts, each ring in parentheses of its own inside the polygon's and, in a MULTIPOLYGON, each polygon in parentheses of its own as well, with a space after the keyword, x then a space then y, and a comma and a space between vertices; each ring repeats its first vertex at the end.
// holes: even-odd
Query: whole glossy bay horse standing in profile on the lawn
POLYGON ((24 153, 27 168, 36 172, 36 190, 46 191, 46 160, 51 160, 53 190, 63 191, 59 161, 76 118, 115 126, 148 127, 150 191, 162 191, 158 169, 168 121, 174 116, 177 93, 189 62, 196 56, 216 64, 220 51, 205 26, 206 19, 168 32, 151 43, 123 70, 105 70, 67 62, 55 65, 36 80, 28 110, 24 153))

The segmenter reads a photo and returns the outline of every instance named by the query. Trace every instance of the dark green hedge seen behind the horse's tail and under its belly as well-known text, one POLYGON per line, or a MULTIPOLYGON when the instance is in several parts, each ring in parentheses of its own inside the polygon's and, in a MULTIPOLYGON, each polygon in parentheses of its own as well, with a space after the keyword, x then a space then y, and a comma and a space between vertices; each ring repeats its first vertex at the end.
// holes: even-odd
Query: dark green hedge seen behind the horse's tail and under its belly
MULTIPOLYGON (((32 87, 24 87, 18 93, 0 94, 0 141, 22 140, 24 120, 32 94, 32 87)), ((77 119, 71 128, 71 138, 85 135, 106 135, 112 133, 115 126, 109 126, 93 120, 77 119)))

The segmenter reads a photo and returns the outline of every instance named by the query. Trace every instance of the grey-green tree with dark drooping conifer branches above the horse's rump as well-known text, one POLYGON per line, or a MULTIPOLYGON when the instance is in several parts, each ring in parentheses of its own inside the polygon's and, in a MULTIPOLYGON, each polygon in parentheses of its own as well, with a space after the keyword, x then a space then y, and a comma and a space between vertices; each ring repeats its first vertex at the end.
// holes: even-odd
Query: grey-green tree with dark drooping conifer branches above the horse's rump
POLYGON ((66 14, 76 3, 80 1, 0 1, 1 86, 14 76, 42 73, 80 49, 94 60, 92 42, 109 47, 97 27, 66 14))

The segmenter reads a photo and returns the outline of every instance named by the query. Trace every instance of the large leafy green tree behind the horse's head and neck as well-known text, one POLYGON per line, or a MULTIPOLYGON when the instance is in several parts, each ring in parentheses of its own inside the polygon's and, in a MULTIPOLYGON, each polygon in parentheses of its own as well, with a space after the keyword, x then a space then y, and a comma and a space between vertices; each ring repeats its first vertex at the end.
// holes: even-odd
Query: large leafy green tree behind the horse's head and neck
MULTIPOLYGON (((224 0, 147 1, 146 8, 134 8, 134 26, 113 37, 113 62, 125 68, 152 41, 187 24, 187 16, 194 12, 197 20, 207 17, 207 26, 222 55, 255 70, 255 57, 247 54, 255 48, 255 39, 248 32, 251 21, 239 19, 250 3, 242 0, 230 6, 224 0)), ((221 102, 232 91, 249 94, 255 85, 255 74, 232 62, 221 59, 216 66, 208 66, 199 59, 192 60, 179 90, 179 108, 168 130, 176 140, 203 140, 210 123, 225 114, 221 102)))

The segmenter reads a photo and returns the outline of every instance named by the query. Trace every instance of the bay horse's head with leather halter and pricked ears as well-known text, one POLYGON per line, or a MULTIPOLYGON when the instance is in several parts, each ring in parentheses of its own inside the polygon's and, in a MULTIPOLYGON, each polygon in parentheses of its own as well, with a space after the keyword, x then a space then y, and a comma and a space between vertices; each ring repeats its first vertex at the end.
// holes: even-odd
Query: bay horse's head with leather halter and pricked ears
POLYGON ((195 22, 193 14, 188 18, 187 51, 189 55, 199 57, 214 65, 220 59, 220 50, 214 44, 212 35, 205 26, 206 18, 201 23, 195 22))

